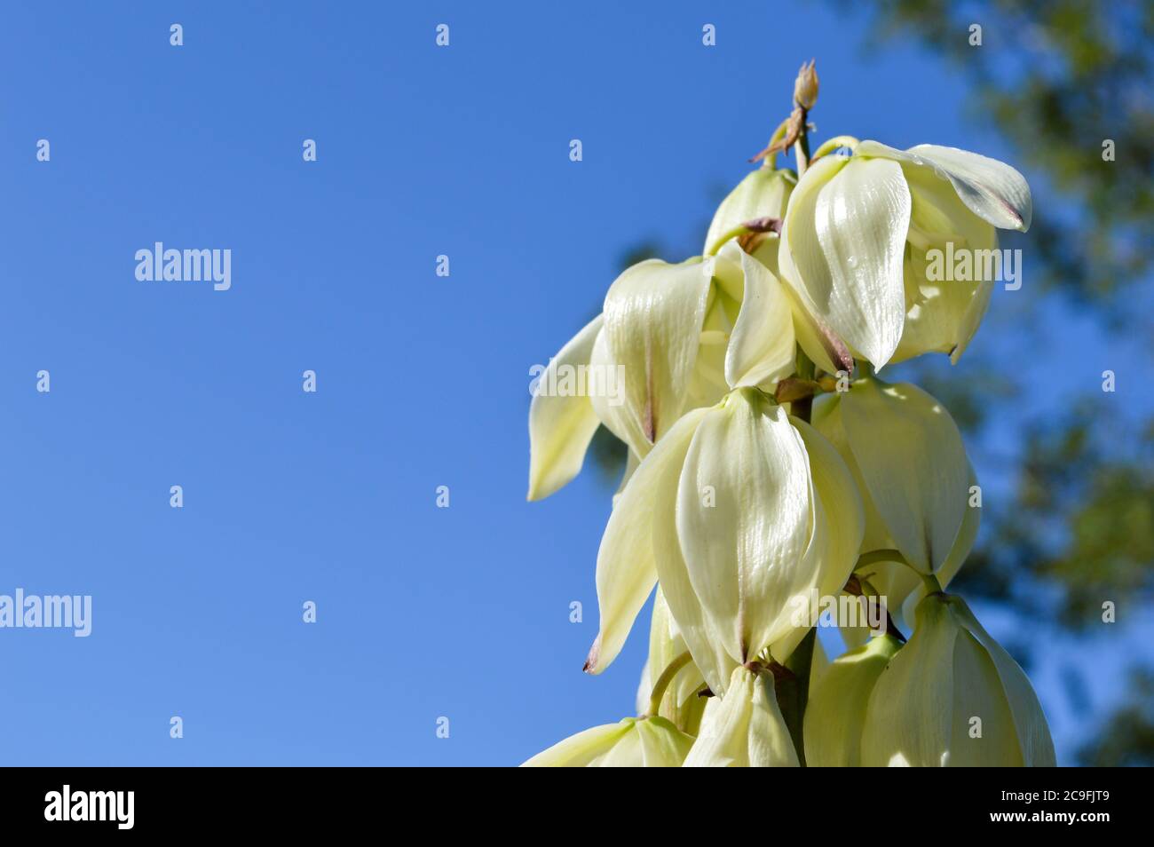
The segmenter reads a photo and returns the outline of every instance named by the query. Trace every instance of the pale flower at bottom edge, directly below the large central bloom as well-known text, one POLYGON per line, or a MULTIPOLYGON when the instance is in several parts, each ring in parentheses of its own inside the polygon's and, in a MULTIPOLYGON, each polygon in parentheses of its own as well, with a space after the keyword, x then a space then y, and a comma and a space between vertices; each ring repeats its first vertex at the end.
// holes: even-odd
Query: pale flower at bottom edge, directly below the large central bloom
MULTIPOLYGON (((715 699, 715 698, 714 698, 715 699)), ((797 767, 797 754, 773 694, 773 677, 735 668, 720 703, 702 719, 685 767, 797 767)))

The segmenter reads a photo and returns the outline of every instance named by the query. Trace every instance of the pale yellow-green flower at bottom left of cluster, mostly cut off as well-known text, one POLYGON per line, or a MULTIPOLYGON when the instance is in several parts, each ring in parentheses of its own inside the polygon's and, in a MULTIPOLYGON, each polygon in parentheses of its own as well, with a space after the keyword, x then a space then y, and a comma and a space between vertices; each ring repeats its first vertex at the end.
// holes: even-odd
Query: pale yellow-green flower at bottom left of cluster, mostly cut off
POLYGON ((692 744, 665 718, 625 718, 570 735, 522 767, 680 767, 692 744))

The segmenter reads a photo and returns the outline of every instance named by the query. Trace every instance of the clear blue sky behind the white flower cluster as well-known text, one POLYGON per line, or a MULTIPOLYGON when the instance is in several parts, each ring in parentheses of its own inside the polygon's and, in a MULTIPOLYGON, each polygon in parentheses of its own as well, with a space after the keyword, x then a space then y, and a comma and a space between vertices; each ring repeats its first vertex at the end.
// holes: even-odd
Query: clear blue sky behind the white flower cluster
MULTIPOLYGON (((631 713, 647 624, 580 674, 610 489, 524 502, 530 366, 628 248, 699 242, 810 57, 820 137, 1001 152, 860 17, 718 7, 6 7, 0 593, 93 630, 0 630, 0 764, 516 764, 631 713), (137 282, 158 240, 232 290, 137 282)), ((1121 361, 1052 320, 1056 378, 1121 361)))

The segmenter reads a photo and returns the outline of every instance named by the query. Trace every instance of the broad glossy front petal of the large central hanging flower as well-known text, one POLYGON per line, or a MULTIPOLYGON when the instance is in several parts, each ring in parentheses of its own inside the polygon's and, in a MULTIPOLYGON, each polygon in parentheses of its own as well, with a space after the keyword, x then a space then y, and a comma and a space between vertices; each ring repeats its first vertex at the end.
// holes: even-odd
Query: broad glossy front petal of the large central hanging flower
MULTIPOLYGON (((785 410, 755 389, 728 395, 702 419, 685 456, 677 540, 717 646, 733 661, 756 658, 792 628, 790 599, 815 579, 803 561, 812 522, 809 458, 785 410)), ((698 666, 712 685, 705 662, 698 666)))

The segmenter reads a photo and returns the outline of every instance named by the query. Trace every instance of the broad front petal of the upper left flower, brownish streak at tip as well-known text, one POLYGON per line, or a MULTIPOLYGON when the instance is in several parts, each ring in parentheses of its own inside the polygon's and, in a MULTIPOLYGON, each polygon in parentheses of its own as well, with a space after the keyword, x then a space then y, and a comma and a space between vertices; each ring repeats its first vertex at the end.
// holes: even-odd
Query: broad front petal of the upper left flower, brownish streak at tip
POLYGON ((627 269, 605 297, 594 363, 623 367, 620 397, 593 396, 598 417, 644 457, 681 417, 709 306, 712 260, 627 269), (617 400, 616 403, 614 400, 617 400))

